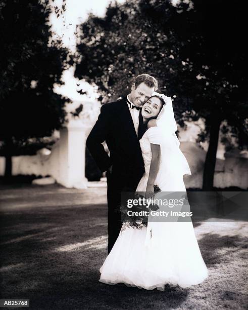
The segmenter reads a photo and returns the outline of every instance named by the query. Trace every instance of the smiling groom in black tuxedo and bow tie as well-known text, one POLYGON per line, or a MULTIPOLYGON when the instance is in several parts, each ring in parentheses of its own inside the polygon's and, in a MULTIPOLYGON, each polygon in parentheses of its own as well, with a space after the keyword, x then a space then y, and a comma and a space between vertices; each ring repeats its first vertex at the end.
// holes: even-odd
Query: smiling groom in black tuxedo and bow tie
POLYGON ((139 139, 145 132, 141 107, 158 89, 158 81, 149 74, 136 76, 131 92, 123 99, 104 104, 86 145, 102 172, 107 171, 108 234, 110 253, 122 222, 117 212, 122 191, 135 191, 144 173, 139 139), (102 142, 106 141, 110 156, 102 142))

